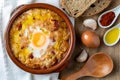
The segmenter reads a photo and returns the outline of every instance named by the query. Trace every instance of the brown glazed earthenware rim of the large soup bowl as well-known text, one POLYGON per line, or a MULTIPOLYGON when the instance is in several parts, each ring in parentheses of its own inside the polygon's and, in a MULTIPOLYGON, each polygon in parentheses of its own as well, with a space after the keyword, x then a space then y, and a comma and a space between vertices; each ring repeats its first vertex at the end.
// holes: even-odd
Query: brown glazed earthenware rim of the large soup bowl
POLYGON ((46 74, 46 73, 59 71, 60 68, 63 68, 63 65, 65 65, 68 62, 68 60, 74 50, 74 45, 75 45, 75 33, 74 33, 73 25, 70 22, 69 18, 60 9, 58 9, 52 5, 43 4, 43 3, 26 4, 26 5, 22 5, 18 8, 16 8, 14 10, 14 12, 12 13, 11 18, 9 20, 4 38, 5 38, 5 47, 6 47, 6 50, 8 52, 9 57, 11 58, 11 60, 21 69, 23 69, 27 72, 30 72, 30 73, 34 73, 34 74, 46 74), (44 9, 49 9, 49 10, 56 12, 59 16, 61 16, 65 20, 65 22, 68 26, 68 29, 70 31, 70 39, 69 39, 70 45, 69 45, 68 51, 66 52, 66 55, 59 63, 55 64, 54 66, 52 66, 48 69, 32 69, 32 68, 25 66, 24 64, 22 64, 15 58, 15 56, 12 53, 11 47, 10 47, 9 33, 10 33, 10 29, 12 27, 13 22, 23 12, 25 12, 29 9, 32 9, 32 8, 44 8, 44 9))

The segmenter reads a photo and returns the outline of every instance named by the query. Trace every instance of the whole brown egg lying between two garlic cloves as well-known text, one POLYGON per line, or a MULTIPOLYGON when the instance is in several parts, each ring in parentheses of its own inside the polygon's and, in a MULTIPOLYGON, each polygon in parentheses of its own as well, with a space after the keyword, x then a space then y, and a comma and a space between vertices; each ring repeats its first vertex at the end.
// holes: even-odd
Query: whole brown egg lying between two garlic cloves
POLYGON ((100 45, 99 36, 90 30, 84 31, 82 33, 81 41, 88 48, 97 48, 100 45))

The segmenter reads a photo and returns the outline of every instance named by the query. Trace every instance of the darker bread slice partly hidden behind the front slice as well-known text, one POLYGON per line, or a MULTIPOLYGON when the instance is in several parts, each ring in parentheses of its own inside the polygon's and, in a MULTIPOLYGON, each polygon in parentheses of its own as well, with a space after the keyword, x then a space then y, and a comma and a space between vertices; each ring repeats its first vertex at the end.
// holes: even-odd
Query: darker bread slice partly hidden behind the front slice
POLYGON ((82 16, 92 16, 98 14, 107 8, 111 2, 112 0, 97 0, 82 14, 82 16))

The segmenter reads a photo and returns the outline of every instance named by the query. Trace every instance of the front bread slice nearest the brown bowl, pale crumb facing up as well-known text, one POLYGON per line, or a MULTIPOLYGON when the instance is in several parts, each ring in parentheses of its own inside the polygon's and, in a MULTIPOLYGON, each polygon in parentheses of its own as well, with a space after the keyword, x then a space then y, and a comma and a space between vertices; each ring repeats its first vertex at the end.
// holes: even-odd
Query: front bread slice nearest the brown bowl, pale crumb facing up
POLYGON ((81 16, 96 0, 61 0, 61 7, 72 17, 81 16))

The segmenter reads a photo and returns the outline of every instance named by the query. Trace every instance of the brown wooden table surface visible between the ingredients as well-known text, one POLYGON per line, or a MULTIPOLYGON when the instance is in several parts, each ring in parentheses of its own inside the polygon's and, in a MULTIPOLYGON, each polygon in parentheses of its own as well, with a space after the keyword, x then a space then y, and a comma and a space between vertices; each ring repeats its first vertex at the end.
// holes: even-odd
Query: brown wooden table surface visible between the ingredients
MULTIPOLYGON (((120 0, 113 0, 112 3, 110 4, 110 6, 106 10, 112 9, 112 8, 116 7, 117 5, 120 5, 120 0)), ((106 11, 106 10, 104 10, 104 11, 106 11)), ((60 77, 72 74, 72 73, 76 72, 77 70, 81 69, 81 67, 85 63, 78 63, 75 61, 75 58, 80 53, 81 48, 84 48, 89 53, 89 56, 91 56, 92 54, 95 54, 96 52, 100 52, 100 51, 106 52, 107 54, 109 54, 111 56, 111 58, 113 59, 114 69, 111 74, 109 74, 108 76, 106 76, 104 78, 83 77, 78 80, 120 80, 120 41, 119 41, 119 43, 117 43, 117 45, 115 45, 113 47, 105 46, 102 38, 103 38, 105 31, 108 29, 102 29, 102 28, 98 27, 97 30, 95 30, 95 32, 101 38, 101 45, 97 49, 86 48, 80 42, 81 33, 84 30, 88 29, 83 26, 83 20, 86 18, 94 18, 97 20, 99 15, 100 14, 91 16, 91 17, 84 17, 84 18, 79 17, 75 20, 75 32, 76 32, 76 36, 77 36, 75 50, 73 52, 73 55, 70 59, 68 66, 66 67, 65 70, 63 70, 61 72, 60 77)), ((114 25, 118 24, 119 22, 120 22, 120 16, 118 17, 118 19, 114 25)))

